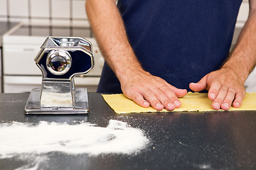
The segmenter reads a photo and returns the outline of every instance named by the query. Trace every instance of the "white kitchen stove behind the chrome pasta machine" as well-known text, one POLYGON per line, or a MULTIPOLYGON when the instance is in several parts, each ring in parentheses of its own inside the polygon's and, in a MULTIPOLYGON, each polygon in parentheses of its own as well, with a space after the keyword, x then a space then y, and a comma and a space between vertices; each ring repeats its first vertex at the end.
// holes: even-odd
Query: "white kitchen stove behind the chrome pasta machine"
POLYGON ((28 92, 41 87, 41 71, 34 58, 48 35, 80 36, 92 42, 95 67, 85 76, 75 77, 75 85, 95 92, 100 81, 104 59, 90 28, 66 26, 28 26, 23 23, 3 36, 4 93, 28 92))

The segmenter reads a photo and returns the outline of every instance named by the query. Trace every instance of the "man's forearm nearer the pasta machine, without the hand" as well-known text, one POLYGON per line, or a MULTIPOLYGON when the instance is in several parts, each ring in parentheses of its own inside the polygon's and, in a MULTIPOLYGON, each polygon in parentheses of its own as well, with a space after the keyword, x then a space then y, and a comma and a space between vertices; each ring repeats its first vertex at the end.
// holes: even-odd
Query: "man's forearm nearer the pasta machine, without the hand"
POLYGON ((85 7, 102 55, 117 77, 132 68, 142 69, 114 0, 87 0, 85 7))

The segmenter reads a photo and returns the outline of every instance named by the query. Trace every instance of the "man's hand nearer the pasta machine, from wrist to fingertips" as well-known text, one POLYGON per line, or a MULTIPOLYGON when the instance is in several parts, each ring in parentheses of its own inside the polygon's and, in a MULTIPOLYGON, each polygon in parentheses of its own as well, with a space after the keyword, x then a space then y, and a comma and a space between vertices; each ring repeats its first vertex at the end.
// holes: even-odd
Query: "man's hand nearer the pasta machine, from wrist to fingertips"
POLYGON ((119 77, 122 91, 127 98, 132 99, 139 106, 149 107, 151 105, 158 111, 163 108, 173 111, 181 106, 178 97, 185 96, 186 89, 177 89, 164 79, 155 77, 143 69, 137 69, 137 72, 128 72, 127 76, 122 74, 122 77, 119 77))

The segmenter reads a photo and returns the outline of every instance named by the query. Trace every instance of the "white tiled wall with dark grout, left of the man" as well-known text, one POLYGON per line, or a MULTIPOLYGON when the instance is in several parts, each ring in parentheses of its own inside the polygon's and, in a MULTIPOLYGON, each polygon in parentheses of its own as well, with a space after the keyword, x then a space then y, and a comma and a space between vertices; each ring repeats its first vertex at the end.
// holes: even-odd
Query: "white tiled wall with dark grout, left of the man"
POLYGON ((0 0, 0 21, 89 26, 85 0, 0 0))

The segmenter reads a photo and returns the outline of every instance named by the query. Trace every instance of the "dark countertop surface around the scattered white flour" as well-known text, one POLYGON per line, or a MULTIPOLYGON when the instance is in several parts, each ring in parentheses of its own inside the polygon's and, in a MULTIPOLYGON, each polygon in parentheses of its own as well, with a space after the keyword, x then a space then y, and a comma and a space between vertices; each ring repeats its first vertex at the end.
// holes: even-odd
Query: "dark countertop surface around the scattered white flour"
MULTIPOLYGON (((114 119, 144 130, 151 140, 135 155, 53 152, 47 169, 256 169, 255 111, 117 115, 100 94, 89 94, 89 115, 25 115, 27 98, 28 94, 0 94, 1 123, 86 120, 105 127, 114 119)), ((17 169, 22 164, 0 159, 0 169, 17 169)))

